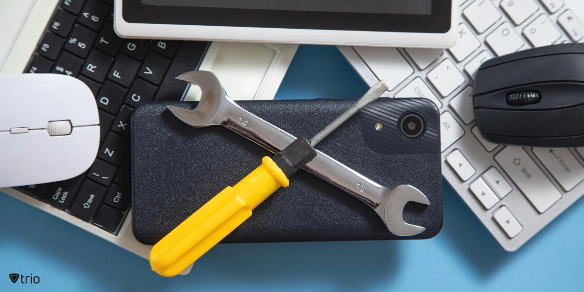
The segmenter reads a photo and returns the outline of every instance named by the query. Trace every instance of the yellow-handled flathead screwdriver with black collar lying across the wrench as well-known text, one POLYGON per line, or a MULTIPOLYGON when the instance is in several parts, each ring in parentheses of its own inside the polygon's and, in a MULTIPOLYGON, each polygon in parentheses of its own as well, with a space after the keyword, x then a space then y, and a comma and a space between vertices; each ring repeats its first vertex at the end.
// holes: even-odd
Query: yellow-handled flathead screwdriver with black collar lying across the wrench
POLYGON ((314 146, 318 142, 385 90, 387 85, 382 80, 310 141, 300 136, 273 158, 263 157, 258 168, 233 187, 223 189, 152 247, 152 270, 172 277, 199 259, 244 223, 273 192, 288 187, 288 178, 317 156, 314 146))

